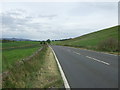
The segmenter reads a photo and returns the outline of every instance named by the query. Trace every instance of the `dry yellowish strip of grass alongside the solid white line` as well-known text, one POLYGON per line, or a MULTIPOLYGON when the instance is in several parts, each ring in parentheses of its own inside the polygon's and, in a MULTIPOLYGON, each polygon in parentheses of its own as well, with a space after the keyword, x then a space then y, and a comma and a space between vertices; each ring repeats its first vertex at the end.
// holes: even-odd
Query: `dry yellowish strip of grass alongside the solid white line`
POLYGON ((48 48, 45 63, 39 70, 38 82, 35 87, 39 88, 60 88, 63 86, 63 81, 60 76, 55 58, 50 48, 48 48))

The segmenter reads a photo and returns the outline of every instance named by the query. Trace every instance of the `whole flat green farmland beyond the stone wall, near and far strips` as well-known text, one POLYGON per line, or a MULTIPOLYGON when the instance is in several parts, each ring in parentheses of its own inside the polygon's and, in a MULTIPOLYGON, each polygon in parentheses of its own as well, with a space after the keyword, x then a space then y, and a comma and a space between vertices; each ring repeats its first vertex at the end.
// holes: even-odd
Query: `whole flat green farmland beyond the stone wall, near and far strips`
POLYGON ((9 69, 17 61, 27 58, 28 56, 36 52, 39 48, 41 48, 38 42, 30 42, 30 41, 2 43, 2 47, 6 48, 2 50, 2 70, 3 71, 9 69), (29 45, 31 44, 32 46, 28 47, 27 46, 28 44, 29 45), (17 48, 10 49, 11 47, 17 47, 17 48))

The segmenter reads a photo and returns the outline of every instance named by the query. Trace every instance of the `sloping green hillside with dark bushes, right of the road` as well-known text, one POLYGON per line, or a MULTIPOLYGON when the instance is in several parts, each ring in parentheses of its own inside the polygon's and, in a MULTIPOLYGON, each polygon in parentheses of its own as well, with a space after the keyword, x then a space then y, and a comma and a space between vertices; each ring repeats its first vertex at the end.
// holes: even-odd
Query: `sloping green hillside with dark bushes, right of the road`
POLYGON ((98 51, 118 52, 118 26, 65 41, 54 41, 53 44, 98 51))

